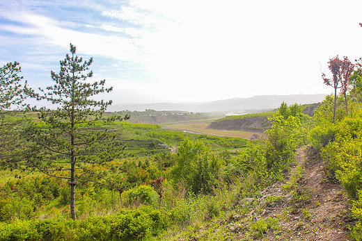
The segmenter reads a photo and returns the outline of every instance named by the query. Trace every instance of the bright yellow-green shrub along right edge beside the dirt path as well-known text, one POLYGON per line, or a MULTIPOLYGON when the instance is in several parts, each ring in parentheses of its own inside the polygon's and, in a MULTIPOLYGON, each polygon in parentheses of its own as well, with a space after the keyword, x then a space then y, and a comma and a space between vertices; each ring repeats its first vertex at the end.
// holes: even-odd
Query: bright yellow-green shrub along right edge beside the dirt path
MULTIPOLYGON (((332 141, 321 148, 326 172, 332 178, 337 178, 353 199, 352 215, 357 219, 352 228, 352 237, 362 240, 362 110, 354 105, 348 117, 337 119, 330 127, 320 124, 315 128, 316 137, 327 137, 332 141), (332 135, 333 133, 333 135, 332 135)), ((325 143, 317 140, 320 146, 325 143)))

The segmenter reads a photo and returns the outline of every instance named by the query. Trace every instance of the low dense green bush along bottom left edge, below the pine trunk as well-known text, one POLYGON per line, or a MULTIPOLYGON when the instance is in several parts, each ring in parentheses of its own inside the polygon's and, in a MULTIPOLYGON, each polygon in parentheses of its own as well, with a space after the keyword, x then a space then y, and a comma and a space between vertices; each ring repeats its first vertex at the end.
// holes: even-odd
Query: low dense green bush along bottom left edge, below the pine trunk
POLYGON ((168 213, 143 206, 117 215, 65 219, 17 220, 0 223, 0 240, 141 240, 169 224, 168 213))

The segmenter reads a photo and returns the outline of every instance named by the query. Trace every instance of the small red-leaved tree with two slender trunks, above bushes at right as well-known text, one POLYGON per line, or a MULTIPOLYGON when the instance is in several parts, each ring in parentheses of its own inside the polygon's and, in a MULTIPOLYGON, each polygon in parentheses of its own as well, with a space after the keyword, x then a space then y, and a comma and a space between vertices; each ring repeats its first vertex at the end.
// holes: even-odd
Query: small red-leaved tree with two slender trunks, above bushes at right
POLYGON ((334 88, 334 108, 333 108, 333 123, 336 119, 336 102, 337 102, 337 89, 341 88, 341 93, 345 96, 345 106, 347 108, 347 88, 349 84, 349 76, 354 70, 354 65, 345 56, 343 60, 340 60, 338 56, 329 59, 329 70, 331 70, 333 78, 327 78, 326 74, 322 73, 324 84, 332 86, 334 88))

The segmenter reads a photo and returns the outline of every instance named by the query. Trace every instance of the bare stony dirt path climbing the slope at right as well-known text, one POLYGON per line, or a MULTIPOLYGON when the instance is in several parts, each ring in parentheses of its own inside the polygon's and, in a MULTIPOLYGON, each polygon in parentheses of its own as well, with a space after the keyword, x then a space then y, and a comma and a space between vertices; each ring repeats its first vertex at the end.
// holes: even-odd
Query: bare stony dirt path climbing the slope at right
POLYGON ((288 178, 262 191, 262 200, 270 197, 278 198, 265 204, 261 217, 279 217, 282 228, 262 240, 351 240, 347 195, 340 183, 326 177, 311 147, 298 149, 297 165, 288 178))

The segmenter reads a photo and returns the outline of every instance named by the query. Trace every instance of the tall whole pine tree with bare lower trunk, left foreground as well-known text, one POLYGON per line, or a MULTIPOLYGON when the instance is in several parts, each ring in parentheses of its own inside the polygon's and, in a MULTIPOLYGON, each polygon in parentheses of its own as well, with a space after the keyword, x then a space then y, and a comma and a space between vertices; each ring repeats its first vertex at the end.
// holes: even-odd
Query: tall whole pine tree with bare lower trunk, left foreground
POLYGON ((26 169, 68 180, 72 219, 77 219, 74 205, 78 181, 91 180, 92 174, 97 175, 94 164, 113 160, 123 149, 112 141, 115 134, 95 128, 95 124, 122 119, 104 117, 111 101, 91 99, 96 94, 111 92, 112 88, 104 87, 105 80, 88 83, 93 76, 92 71, 88 72, 93 58, 83 61, 75 53, 76 47, 70 44, 70 54, 60 61, 59 74, 52 72, 55 84, 40 89, 38 99, 49 101, 56 110, 41 108, 41 122, 34 122, 25 132, 29 140, 26 169))

